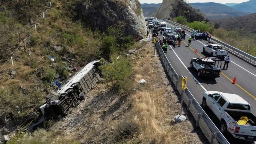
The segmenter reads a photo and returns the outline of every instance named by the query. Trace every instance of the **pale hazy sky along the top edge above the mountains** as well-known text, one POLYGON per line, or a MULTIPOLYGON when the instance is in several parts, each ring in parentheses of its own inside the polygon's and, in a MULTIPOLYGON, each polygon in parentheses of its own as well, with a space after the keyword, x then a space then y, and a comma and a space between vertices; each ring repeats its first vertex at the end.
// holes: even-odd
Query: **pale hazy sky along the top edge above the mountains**
MULTIPOLYGON (((249 0, 187 0, 189 3, 194 2, 217 2, 217 3, 242 3, 249 0)), ((139 0, 140 3, 162 3, 162 0, 139 0)))

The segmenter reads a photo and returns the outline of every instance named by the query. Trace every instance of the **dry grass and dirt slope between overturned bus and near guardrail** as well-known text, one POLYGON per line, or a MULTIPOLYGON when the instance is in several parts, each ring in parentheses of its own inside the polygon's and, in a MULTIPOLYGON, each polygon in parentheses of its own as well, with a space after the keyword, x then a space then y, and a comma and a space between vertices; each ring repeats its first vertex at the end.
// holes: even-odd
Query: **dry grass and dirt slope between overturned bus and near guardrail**
POLYGON ((204 143, 190 121, 175 124, 180 102, 159 58, 151 58, 151 41, 142 45, 128 56, 135 70, 130 94, 119 92, 103 79, 55 130, 81 143, 204 143), (140 79, 146 83, 139 84, 140 79))

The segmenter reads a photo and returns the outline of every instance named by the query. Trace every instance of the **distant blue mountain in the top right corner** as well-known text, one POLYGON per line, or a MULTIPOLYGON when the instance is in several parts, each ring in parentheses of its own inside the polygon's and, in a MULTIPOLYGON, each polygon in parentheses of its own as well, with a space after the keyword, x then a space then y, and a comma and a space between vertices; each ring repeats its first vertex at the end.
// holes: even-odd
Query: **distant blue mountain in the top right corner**
POLYGON ((256 0, 250 0, 247 2, 242 2, 237 5, 231 6, 234 9, 246 11, 249 13, 256 13, 256 0))

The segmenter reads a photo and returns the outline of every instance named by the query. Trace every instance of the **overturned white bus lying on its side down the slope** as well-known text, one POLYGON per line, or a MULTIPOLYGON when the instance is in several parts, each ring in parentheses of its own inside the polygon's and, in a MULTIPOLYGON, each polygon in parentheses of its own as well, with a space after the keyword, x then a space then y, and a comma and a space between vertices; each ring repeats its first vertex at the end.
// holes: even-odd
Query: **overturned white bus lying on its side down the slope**
POLYGON ((37 118, 29 118, 19 127, 20 131, 31 131, 45 120, 60 120, 85 99, 85 95, 99 81, 98 67, 105 61, 92 61, 63 84, 57 91, 51 91, 45 103, 39 108, 37 118))

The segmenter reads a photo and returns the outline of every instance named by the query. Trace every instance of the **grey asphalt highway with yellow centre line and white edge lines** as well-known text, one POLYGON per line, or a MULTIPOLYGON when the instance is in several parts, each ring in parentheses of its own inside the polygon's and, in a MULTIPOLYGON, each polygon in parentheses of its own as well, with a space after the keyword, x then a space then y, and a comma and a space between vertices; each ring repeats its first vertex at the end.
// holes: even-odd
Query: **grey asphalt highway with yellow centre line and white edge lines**
MULTIPOLYGON (((158 21, 166 22, 162 20, 158 21)), ((174 29, 175 25, 169 22, 166 23, 167 27, 172 27, 174 29)), ((224 93, 237 94, 250 103, 252 107, 252 113, 256 115, 256 68, 229 53, 228 55, 231 58, 231 63, 229 63, 227 70, 221 71, 221 77, 216 78, 215 80, 200 78, 197 76, 197 71, 190 68, 190 61, 191 58, 209 57, 209 55, 202 53, 203 45, 208 45, 209 43, 208 41, 194 40, 191 42, 191 46, 188 46, 188 38, 190 35, 191 32, 186 31, 186 40, 182 41, 181 46, 175 47, 175 49, 172 49, 169 46, 166 56, 178 74, 187 76, 187 87, 193 96, 197 99, 198 103, 202 103, 202 96, 204 91, 214 90, 224 93), (196 49, 197 53, 195 53, 196 49), (237 84, 232 84, 235 76, 237 84), (193 77, 197 79, 199 83, 197 83, 193 77)), ((224 62, 222 62, 222 67, 223 65, 224 62)), ((207 114, 215 123, 215 125, 219 127, 217 117, 215 117, 211 111, 207 111, 207 114)), ((237 143, 239 141, 232 136, 228 136, 227 139, 230 143, 237 143)), ((247 141, 242 142, 251 143, 247 141)))

